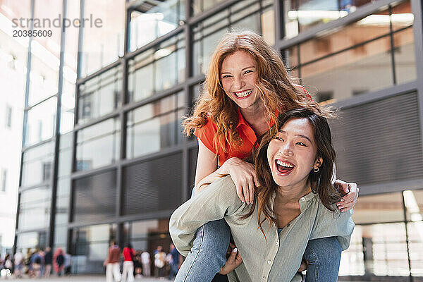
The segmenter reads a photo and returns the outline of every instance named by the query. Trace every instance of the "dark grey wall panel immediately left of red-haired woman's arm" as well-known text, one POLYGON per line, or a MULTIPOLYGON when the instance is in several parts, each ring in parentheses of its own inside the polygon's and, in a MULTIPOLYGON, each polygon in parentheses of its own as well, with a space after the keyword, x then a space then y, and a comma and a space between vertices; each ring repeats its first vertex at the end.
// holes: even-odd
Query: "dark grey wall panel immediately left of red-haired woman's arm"
POLYGON ((181 204, 182 154, 123 168, 123 214, 176 209, 181 204))

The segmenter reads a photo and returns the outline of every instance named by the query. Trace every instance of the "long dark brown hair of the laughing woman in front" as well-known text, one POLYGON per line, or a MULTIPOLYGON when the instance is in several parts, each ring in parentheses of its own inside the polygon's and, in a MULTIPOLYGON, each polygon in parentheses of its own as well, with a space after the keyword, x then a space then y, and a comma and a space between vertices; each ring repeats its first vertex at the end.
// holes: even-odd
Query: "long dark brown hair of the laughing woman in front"
MULTIPOLYGON (((317 145, 316 157, 321 157, 323 159, 319 171, 317 173, 310 171, 309 173, 307 183, 311 185, 312 192, 318 194, 324 207, 332 212, 334 209, 331 207, 331 204, 338 202, 342 197, 341 193, 331 184, 336 154, 332 146, 331 129, 329 128, 325 115, 312 111, 311 109, 292 109, 286 111, 278 117, 278 123, 276 123, 279 125, 278 129, 269 130, 262 137, 262 141, 253 152, 255 171, 260 184, 255 190, 255 204, 258 205, 257 221, 264 238, 266 238, 266 235, 264 234, 262 223, 267 219, 276 224, 276 219, 271 209, 271 197, 278 189, 278 185, 275 183, 271 174, 269 161, 267 160, 267 148, 269 147, 270 141, 275 137, 275 132, 277 133, 278 130, 281 130, 283 125, 293 118, 307 118, 307 121, 309 121, 314 130, 314 140, 317 145), (264 219, 262 219, 262 214, 264 215, 264 219)), ((276 126, 276 124, 274 126, 276 126)), ((253 214, 255 204, 252 205, 250 212, 242 218, 245 219, 253 214)))

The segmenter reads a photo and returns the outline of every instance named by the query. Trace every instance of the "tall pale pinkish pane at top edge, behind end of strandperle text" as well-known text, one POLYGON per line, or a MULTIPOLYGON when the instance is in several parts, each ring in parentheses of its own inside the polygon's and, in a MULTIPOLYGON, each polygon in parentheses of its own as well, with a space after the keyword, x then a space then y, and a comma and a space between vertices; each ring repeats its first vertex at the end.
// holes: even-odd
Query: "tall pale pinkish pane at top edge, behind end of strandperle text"
POLYGON ((84 9, 82 77, 123 56, 125 0, 85 1, 84 9))

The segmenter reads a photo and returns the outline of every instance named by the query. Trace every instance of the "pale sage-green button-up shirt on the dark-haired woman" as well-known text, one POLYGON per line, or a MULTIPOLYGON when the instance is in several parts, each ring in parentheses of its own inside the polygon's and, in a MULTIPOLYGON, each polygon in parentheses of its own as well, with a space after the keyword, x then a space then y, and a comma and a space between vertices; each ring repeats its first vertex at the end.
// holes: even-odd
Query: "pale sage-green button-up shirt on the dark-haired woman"
MULTIPOLYGON (((275 195, 271 198, 272 208, 275 195)), ((225 219, 243 263, 228 274, 229 281, 301 281, 297 274, 309 240, 336 236, 342 250, 350 245, 354 223, 352 211, 331 212, 319 197, 310 192, 300 199, 300 215, 288 223, 281 233, 269 221, 259 230, 257 205, 247 219, 250 205, 240 201, 230 176, 214 181, 198 195, 182 204, 171 216, 169 231, 176 248, 188 255, 195 233, 204 223, 225 219)))

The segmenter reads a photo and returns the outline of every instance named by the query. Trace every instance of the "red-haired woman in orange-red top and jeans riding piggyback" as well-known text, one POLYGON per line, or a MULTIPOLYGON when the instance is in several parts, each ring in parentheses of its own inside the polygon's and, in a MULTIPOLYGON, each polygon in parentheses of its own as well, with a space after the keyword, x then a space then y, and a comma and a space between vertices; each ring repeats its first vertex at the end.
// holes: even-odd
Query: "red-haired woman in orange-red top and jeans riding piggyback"
MULTIPOLYGON (((254 32, 225 35, 212 55, 195 111, 184 121, 185 133, 194 130, 198 138, 193 193, 207 189, 216 176, 230 175, 240 200, 252 204, 259 183, 254 166, 245 159, 279 114, 299 107, 319 109, 319 104, 311 101, 304 87, 295 85, 278 53, 262 37, 254 32)), ((338 208, 347 211, 357 201, 357 185, 341 180, 336 184, 347 192, 338 208)), ((223 220, 199 228, 176 281, 212 281, 226 262, 230 236, 223 220)), ((307 249, 319 255, 321 245, 339 250, 336 241, 326 239, 310 241, 307 249)), ((308 261, 310 269, 314 259, 308 261)))

